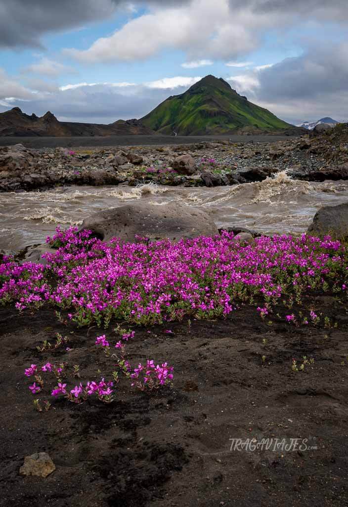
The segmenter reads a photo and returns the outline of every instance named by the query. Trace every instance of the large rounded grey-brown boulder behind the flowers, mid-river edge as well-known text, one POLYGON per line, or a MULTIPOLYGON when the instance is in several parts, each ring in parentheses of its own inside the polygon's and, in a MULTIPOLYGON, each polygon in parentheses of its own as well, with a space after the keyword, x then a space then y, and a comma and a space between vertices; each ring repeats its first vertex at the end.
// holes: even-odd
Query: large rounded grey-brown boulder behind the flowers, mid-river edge
POLYGON ((85 229, 104 241, 118 237, 125 242, 137 241, 136 235, 155 241, 219 234, 207 213, 180 203, 163 206, 134 203, 99 211, 83 221, 80 231, 85 229))

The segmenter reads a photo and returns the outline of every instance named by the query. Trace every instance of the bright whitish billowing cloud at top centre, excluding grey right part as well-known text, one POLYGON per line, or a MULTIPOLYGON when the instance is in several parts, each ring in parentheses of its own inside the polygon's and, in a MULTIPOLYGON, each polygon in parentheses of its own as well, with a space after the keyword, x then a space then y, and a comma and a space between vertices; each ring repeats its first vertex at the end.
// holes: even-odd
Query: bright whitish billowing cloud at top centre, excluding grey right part
MULTIPOLYGON (((266 18, 266 17, 265 17, 266 18)), ((192 0, 186 5, 153 7, 131 19, 110 37, 96 40, 89 49, 66 53, 83 62, 141 60, 164 48, 186 51, 188 61, 231 58, 257 46, 262 16, 232 12, 228 0, 192 0)))

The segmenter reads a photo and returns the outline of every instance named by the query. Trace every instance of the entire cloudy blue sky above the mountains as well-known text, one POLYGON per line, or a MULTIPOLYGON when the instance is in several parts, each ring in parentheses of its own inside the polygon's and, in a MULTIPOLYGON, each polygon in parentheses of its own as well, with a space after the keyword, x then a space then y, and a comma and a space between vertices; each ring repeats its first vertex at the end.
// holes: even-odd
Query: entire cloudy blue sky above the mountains
POLYGON ((0 112, 141 118, 212 74, 293 124, 348 120, 346 0, 0 0, 0 112))

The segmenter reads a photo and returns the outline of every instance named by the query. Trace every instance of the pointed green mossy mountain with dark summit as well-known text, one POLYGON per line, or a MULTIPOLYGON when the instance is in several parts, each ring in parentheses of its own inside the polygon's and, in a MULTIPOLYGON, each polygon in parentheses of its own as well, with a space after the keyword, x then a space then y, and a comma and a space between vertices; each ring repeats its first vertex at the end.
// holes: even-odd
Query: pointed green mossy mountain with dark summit
POLYGON ((181 95, 168 97, 141 121, 157 133, 169 135, 293 128, 214 76, 206 76, 181 95))

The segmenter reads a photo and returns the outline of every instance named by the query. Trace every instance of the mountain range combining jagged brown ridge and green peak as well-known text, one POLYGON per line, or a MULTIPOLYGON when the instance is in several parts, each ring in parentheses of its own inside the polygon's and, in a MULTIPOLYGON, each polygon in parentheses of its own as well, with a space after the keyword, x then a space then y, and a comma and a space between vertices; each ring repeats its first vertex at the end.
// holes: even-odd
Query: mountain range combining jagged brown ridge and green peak
MULTIPOLYGON (((306 132, 302 129, 303 132, 306 132)), ((168 97, 140 120, 108 125, 61 122, 50 111, 38 117, 19 107, 0 113, 0 136, 221 135, 285 133, 301 129, 249 102, 222 78, 205 76, 186 92, 168 97)))

